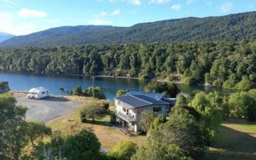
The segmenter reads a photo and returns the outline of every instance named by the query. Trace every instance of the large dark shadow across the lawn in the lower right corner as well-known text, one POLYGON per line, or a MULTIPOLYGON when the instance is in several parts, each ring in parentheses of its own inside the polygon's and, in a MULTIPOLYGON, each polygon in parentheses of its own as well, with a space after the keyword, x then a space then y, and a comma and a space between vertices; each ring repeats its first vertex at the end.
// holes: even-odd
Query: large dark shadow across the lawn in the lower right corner
POLYGON ((255 133, 240 132, 221 125, 217 142, 208 151, 205 159, 256 160, 256 137, 250 134, 255 133))

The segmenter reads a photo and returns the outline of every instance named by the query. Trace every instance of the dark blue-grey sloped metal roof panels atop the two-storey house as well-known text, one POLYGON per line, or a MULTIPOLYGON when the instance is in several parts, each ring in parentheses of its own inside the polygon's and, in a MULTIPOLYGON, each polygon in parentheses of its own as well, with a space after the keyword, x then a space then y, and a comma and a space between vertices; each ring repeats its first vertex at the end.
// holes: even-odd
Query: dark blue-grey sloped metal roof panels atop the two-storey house
POLYGON ((169 105, 169 103, 167 103, 167 102, 149 97, 147 95, 126 94, 121 97, 115 97, 115 99, 118 99, 121 102, 124 102, 124 103, 130 105, 132 108, 145 107, 145 106, 149 106, 149 105, 169 105))

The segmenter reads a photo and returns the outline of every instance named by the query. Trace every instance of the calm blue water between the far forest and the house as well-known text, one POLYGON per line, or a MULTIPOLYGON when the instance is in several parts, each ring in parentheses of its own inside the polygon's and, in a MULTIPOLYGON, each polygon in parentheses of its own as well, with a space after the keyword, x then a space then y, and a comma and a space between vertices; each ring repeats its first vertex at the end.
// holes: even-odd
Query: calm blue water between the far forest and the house
MULTIPOLYGON (((14 74, 14 73, 0 73, 0 81, 9 81, 9 86, 14 90, 29 90, 34 87, 43 86, 49 89, 50 93, 60 94, 60 87, 65 90, 73 89, 80 84, 83 89, 92 86, 92 79, 84 76, 61 76, 61 75, 37 75, 37 74, 14 74)), ((97 77, 95 79, 95 86, 99 86, 105 93, 107 99, 113 100, 116 91, 119 89, 127 89, 129 91, 139 91, 146 85, 137 79, 126 78, 110 78, 97 77)), ((222 93, 230 93, 232 90, 221 90, 213 87, 204 86, 185 86, 177 84, 182 92, 191 92, 195 89, 200 89, 205 92, 218 91, 222 93)))

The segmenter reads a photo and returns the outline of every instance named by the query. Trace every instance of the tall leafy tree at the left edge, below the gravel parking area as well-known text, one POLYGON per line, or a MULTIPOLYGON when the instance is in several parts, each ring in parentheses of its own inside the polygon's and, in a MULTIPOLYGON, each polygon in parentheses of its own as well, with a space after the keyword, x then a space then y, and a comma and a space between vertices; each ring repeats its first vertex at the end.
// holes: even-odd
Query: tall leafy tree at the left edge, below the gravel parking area
POLYGON ((25 116, 27 108, 16 106, 10 94, 0 95, 0 159, 18 160, 27 144, 25 116))

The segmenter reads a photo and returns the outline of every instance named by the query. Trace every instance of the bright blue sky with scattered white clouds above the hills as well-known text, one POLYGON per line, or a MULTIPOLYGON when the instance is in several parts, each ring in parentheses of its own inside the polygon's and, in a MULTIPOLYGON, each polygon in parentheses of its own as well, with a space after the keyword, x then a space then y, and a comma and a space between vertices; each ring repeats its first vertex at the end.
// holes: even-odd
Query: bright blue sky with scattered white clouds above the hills
POLYGON ((26 35, 52 27, 112 25, 256 11, 256 0, 0 0, 0 32, 26 35))

